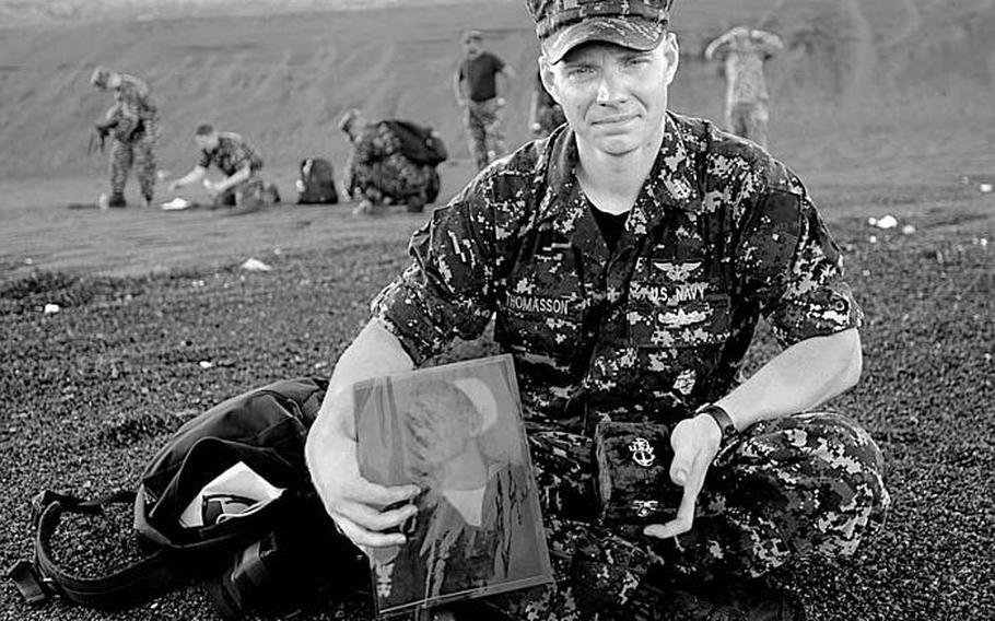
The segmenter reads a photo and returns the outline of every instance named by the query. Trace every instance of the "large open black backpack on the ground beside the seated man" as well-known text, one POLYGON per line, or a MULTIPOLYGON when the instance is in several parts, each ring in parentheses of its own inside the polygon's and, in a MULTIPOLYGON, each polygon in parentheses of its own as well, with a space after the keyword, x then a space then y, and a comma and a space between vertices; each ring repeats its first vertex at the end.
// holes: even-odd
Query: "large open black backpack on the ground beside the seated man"
POLYGON ((304 462, 304 441, 326 388, 321 379, 288 379, 211 408, 166 442, 137 490, 91 501, 54 492, 36 495, 34 558, 17 562, 8 577, 31 604, 60 596, 108 610, 138 606, 200 581, 218 612, 230 619, 249 611, 293 613, 367 588, 362 576, 368 566, 336 531, 304 462), (283 492, 244 516, 183 527, 184 508, 199 496, 202 515, 210 515, 218 496, 201 490, 238 462, 283 492), (98 516, 117 503, 133 503, 141 560, 89 577, 60 566, 52 537, 61 516, 98 516))

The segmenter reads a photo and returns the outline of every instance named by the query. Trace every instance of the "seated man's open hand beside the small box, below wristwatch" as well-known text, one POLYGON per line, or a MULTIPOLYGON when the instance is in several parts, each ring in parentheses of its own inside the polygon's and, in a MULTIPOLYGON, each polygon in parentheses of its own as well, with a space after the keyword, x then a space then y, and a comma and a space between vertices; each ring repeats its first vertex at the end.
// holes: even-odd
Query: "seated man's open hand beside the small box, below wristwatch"
POLYGON ((666 539, 691 530, 694 525, 694 507, 698 494, 705 482, 705 474, 712 460, 718 454, 722 430, 707 414, 682 420, 670 434, 674 460, 670 462, 670 479, 684 489, 677 517, 667 524, 651 524, 644 535, 666 539))

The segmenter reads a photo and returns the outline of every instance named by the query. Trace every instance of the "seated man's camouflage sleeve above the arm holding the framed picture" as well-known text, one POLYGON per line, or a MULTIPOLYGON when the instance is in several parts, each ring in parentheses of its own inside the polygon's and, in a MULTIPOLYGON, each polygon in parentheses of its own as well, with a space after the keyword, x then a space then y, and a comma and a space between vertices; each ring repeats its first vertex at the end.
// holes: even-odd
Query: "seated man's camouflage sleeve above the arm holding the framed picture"
POLYGON ((415 364, 480 336, 493 314, 495 227, 481 187, 433 212, 411 236, 411 263, 372 303, 415 364))

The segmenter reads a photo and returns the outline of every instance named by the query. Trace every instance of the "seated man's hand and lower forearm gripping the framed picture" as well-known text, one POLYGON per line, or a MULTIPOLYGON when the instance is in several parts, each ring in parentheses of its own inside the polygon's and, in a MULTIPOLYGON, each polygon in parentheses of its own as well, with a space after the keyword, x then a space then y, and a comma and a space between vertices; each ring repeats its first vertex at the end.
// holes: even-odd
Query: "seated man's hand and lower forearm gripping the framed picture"
POLYGON ((385 488, 360 476, 351 399, 324 411, 307 436, 307 467, 325 509, 342 535, 370 554, 370 548, 401 546, 407 540, 398 529, 414 513, 411 500, 417 485, 385 488), (391 507, 384 511, 385 507, 391 507))

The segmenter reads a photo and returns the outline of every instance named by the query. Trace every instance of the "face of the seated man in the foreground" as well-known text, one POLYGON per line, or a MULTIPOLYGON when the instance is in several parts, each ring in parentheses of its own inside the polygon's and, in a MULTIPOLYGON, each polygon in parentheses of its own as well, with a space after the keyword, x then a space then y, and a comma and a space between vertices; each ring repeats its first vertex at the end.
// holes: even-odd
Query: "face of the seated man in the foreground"
POLYGON ((609 43, 570 50, 560 62, 540 58, 542 82, 563 108, 577 141, 610 155, 623 155, 663 132, 667 91, 677 72, 672 33, 651 51, 609 43))

